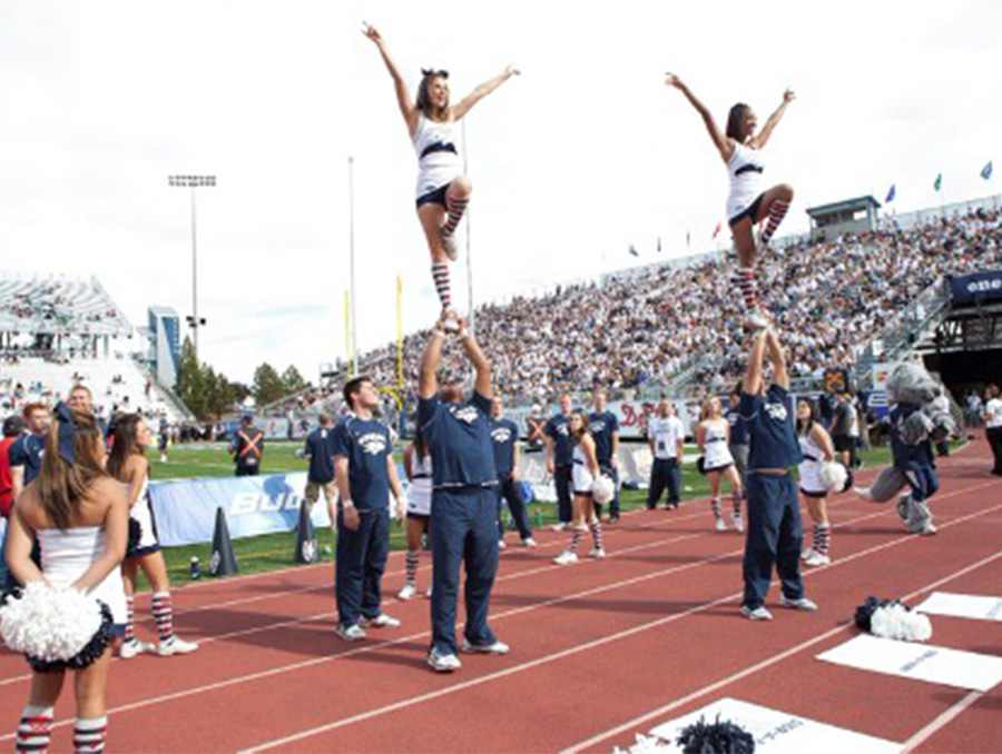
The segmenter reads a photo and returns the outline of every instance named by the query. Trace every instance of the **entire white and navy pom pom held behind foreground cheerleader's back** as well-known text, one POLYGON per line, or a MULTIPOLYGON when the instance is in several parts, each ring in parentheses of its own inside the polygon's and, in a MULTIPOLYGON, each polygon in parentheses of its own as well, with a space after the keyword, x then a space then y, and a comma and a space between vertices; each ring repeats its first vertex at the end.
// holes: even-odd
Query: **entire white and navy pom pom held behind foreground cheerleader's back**
POLYGON ((77 589, 33 582, 0 607, 0 635, 39 673, 87 667, 108 646, 111 612, 77 589))

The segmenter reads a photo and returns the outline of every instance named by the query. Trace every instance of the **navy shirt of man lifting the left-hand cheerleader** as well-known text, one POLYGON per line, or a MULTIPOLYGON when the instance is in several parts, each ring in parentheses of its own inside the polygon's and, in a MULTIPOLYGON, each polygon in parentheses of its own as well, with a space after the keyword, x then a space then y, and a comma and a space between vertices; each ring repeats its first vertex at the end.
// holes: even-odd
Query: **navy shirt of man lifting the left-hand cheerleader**
POLYGON ((491 399, 473 390, 470 400, 418 399, 418 420, 432 455, 435 489, 498 485, 491 440, 491 399))

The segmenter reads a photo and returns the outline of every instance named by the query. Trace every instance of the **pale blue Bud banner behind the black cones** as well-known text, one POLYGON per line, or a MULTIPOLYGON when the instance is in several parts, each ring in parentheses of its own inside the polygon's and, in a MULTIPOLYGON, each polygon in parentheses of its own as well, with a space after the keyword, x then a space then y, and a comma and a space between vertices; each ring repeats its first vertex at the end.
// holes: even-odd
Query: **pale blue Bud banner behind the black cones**
MULTIPOLYGON (((299 517, 306 473, 153 482, 157 536, 165 546, 212 542, 216 509, 223 508, 234 539, 292 532, 299 517)), ((313 506, 314 526, 331 526, 323 494, 313 506)))

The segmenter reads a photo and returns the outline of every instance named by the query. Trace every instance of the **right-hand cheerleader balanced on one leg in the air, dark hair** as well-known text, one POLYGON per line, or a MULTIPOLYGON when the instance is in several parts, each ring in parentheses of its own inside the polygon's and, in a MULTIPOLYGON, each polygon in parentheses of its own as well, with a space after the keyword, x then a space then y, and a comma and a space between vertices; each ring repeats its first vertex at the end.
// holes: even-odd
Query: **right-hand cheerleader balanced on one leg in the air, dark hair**
POLYGON ((727 113, 727 127, 721 131, 710 111, 696 99, 680 78, 668 73, 665 83, 681 91, 696 108, 703 117, 703 122, 706 123, 714 146, 727 166, 727 175, 730 178, 727 221, 738 256, 737 284, 745 301, 745 327, 753 330, 760 329, 767 323, 756 306, 755 262, 757 256, 768 247, 769 240, 786 217, 789 202, 793 201, 793 187, 789 183, 765 188, 763 181, 765 166, 760 155, 783 113, 786 112, 786 107, 794 100, 794 93, 789 89, 783 93, 783 103, 769 116, 760 131, 756 132, 758 120, 755 112, 744 102, 730 108, 727 113), (754 227, 763 220, 766 221, 765 228, 756 239, 754 227))

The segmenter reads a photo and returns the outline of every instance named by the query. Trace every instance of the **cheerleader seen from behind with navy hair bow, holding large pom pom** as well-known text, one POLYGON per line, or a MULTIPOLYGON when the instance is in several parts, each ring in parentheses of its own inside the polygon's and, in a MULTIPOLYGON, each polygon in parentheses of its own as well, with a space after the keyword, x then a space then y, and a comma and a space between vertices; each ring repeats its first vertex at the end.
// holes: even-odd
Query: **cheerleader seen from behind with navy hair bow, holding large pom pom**
POLYGON ((105 448, 92 415, 56 407, 38 478, 10 517, 7 565, 24 584, 0 608, 0 633, 33 671, 16 751, 49 747, 56 700, 67 669, 76 673, 76 751, 100 752, 107 731, 105 687, 110 639, 125 623, 119 563, 125 556, 128 502, 104 468, 105 448), (38 538, 41 569, 31 560, 38 538))

